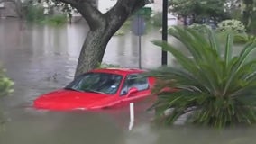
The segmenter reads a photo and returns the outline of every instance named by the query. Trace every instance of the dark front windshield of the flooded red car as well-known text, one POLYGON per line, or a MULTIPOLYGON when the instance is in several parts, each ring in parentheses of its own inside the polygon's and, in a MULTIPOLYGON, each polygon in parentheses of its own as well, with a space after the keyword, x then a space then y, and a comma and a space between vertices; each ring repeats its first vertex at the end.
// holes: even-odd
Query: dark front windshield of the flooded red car
POLYGON ((121 84, 123 76, 108 73, 87 73, 78 76, 65 87, 82 92, 98 94, 115 94, 121 84))

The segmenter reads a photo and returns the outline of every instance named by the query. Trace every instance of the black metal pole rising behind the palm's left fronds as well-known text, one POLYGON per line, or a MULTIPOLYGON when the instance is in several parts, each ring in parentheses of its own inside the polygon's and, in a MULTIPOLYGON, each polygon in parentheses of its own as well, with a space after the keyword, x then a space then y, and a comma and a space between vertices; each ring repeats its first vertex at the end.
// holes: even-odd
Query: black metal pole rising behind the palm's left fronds
MULTIPOLYGON (((167 25, 167 17, 168 17, 168 0, 162 1, 162 40, 168 41, 168 25, 167 25)), ((167 65, 167 51, 161 52, 161 65, 167 65)))

